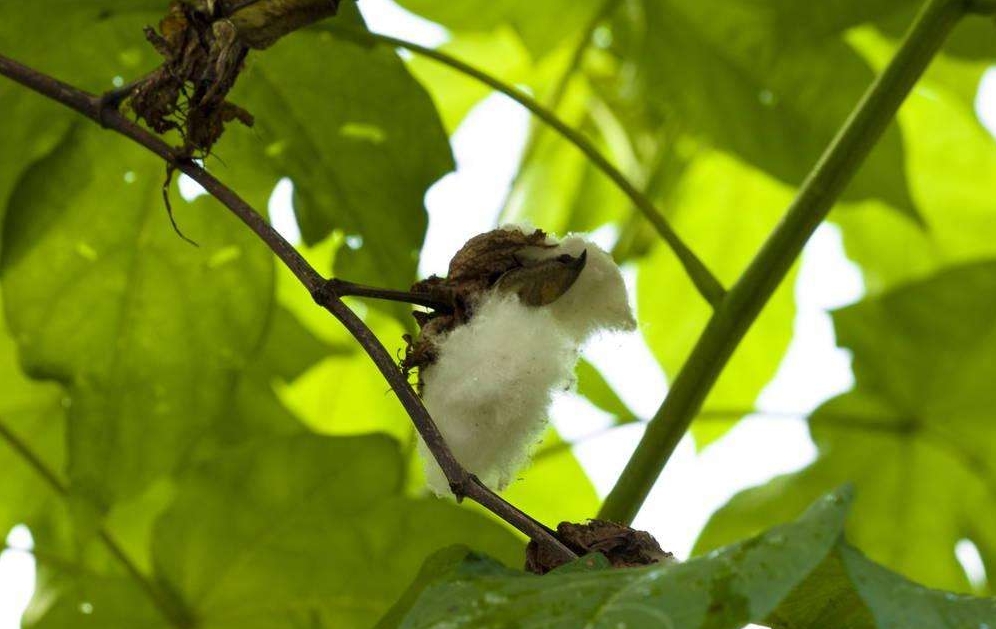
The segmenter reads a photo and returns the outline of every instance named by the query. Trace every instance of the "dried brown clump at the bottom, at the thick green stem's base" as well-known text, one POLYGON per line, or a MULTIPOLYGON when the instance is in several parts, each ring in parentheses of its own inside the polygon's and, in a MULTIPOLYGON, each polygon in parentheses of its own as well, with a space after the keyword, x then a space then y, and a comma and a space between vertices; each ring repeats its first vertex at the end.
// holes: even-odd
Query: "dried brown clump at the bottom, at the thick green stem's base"
MULTIPOLYGON (((578 555, 602 553, 613 568, 675 561, 674 555, 662 550, 650 533, 605 520, 589 520, 586 524, 561 522, 557 525, 557 537, 578 555)), ((546 546, 533 541, 526 547, 529 572, 546 574, 562 564, 563 559, 550 553, 546 546)))

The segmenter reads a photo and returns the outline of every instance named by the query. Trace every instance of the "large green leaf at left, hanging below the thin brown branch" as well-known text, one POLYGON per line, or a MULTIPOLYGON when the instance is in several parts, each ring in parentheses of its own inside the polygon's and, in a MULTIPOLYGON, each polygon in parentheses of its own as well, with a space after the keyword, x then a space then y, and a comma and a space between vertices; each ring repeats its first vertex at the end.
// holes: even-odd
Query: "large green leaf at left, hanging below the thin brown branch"
POLYGON ((22 177, 3 289, 26 371, 70 398, 71 485, 107 506, 167 473, 225 410, 271 304, 269 252, 210 199, 173 199, 159 160, 84 123, 22 177), (58 181, 58 185, 52 185, 58 181))

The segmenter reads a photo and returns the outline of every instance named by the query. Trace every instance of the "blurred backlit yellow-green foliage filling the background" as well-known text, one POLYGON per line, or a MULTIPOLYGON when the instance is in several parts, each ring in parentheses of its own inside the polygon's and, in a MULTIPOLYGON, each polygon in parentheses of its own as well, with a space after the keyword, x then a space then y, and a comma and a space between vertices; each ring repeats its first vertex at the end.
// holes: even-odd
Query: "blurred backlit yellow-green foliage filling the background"
MULTIPOLYGON (((917 5, 400 4, 448 30, 441 51, 584 133, 727 285, 917 5)), ((0 51, 102 92, 158 63, 141 29, 164 8, 3 2, 0 51)), ((448 136, 490 90, 344 24, 365 28, 351 2, 250 56, 232 100, 256 126, 231 128, 206 166, 257 208, 290 178, 317 268, 402 288, 416 279, 426 190, 454 167, 448 136)), ((992 23, 964 21, 834 209, 868 293, 834 315, 854 390, 809 419, 816 462, 734 498, 697 551, 850 481, 848 533, 875 561, 968 592, 953 552, 968 539, 996 574, 996 144, 974 111, 994 61, 992 23)), ((0 532, 23 523, 34 536, 28 626, 366 627, 445 545, 521 564, 523 540, 492 516, 427 497, 386 384, 237 221, 174 185, 191 247, 169 227, 157 158, 9 81, 0 112, 0 532)), ((643 337, 675 375, 709 309, 629 200, 539 123, 502 218, 557 233, 612 226, 612 253, 637 272, 643 337)), ((706 408, 755 406, 792 337, 793 284, 706 408)), ((401 347, 403 310, 356 305, 401 347)), ((588 363, 579 390, 634 421, 588 363)), ((695 424, 697 445, 737 418, 695 424)), ((549 525, 598 507, 552 432, 506 495, 549 525)))

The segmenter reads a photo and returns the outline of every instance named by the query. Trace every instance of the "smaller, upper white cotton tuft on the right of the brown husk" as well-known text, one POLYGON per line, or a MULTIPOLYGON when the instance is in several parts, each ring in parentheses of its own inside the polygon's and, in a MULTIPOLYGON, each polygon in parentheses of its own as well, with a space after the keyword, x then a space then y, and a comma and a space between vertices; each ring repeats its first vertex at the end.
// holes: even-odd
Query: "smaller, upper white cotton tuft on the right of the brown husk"
POLYGON ((632 330, 636 328, 633 311, 626 296, 626 284, 612 256, 580 236, 571 235, 561 242, 547 238, 551 248, 534 248, 524 253, 532 260, 547 260, 559 255, 573 257, 587 251, 588 260, 574 284, 549 309, 565 331, 578 343, 598 330, 632 330))

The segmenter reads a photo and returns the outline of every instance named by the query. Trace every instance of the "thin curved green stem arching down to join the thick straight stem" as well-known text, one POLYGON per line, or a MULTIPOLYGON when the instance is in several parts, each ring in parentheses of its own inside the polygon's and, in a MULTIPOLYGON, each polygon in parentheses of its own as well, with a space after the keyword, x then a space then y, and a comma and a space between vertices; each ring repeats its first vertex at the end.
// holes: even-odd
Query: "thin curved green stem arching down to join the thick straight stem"
POLYGON ((709 302, 713 308, 716 308, 719 302, 722 301, 726 292, 723 289, 722 284, 719 283, 716 276, 714 276, 705 264, 699 260, 688 245, 681 240, 678 234, 671 227, 670 223, 668 223, 664 216, 658 212, 653 202, 647 198, 646 195, 640 192, 640 190, 626 178, 626 175, 613 166, 612 162, 602 155, 598 148, 596 148, 595 145, 588 140, 588 138, 575 129, 572 129, 569 125, 567 125, 567 123, 558 118, 555 113, 541 105, 534 98, 525 92, 508 85, 499 79, 496 79, 487 72, 468 65, 467 63, 464 63, 463 61, 460 61, 459 59, 442 51, 419 46, 418 44, 398 39, 396 37, 381 35, 379 33, 371 33, 369 31, 361 31, 352 27, 334 25, 329 26, 328 29, 332 32, 340 33, 345 37, 355 38, 361 42, 372 42, 386 44, 395 48, 404 48, 405 50, 428 57, 447 65, 454 70, 462 72, 467 76, 477 79, 481 83, 484 83, 502 94, 505 94, 528 109, 533 113, 533 115, 557 131, 564 137, 564 139, 584 153, 585 156, 591 160, 591 163, 594 164, 596 168, 601 170, 622 191, 622 193, 633 202, 633 204, 640 210, 647 220, 650 221, 650 224, 654 226, 654 229, 657 230, 657 233, 660 234, 661 238, 663 238, 668 246, 671 247, 671 250, 674 251, 674 254, 678 257, 681 265, 688 273, 689 278, 691 278, 692 283, 695 284, 695 288, 698 289, 699 293, 702 294, 702 297, 705 298, 705 300, 709 302))

